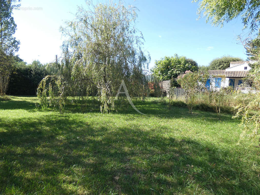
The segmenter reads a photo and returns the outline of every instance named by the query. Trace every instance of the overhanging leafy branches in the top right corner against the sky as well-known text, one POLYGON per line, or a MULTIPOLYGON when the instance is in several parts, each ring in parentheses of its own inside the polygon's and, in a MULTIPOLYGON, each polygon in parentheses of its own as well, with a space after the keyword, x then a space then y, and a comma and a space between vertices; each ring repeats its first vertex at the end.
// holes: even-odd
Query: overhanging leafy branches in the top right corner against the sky
POLYGON ((250 32, 259 33, 260 24, 260 1, 258 0, 193 0, 199 2, 199 18, 203 12, 206 22, 211 22, 214 26, 223 27, 224 22, 230 22, 234 18, 240 17, 244 29, 249 28, 250 32))

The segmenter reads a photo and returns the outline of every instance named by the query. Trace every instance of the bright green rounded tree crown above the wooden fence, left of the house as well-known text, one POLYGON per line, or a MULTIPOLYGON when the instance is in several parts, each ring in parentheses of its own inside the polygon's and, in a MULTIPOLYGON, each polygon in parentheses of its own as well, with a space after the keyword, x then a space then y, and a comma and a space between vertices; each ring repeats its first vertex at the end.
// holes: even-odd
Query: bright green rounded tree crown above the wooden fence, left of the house
POLYGON ((165 56, 161 60, 156 60, 154 68, 151 69, 153 75, 160 81, 177 78, 186 70, 198 70, 197 62, 184 56, 178 56, 177 54, 172 57, 165 56))

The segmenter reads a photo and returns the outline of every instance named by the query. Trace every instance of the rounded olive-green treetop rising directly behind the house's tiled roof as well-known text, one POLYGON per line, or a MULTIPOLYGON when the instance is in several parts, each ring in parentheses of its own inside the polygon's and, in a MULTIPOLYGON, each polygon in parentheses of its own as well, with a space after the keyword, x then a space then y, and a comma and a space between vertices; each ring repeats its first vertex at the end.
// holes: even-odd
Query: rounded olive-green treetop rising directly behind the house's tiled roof
POLYGON ((223 56, 213 59, 209 64, 209 70, 224 70, 230 67, 230 62, 243 61, 239 57, 223 56))

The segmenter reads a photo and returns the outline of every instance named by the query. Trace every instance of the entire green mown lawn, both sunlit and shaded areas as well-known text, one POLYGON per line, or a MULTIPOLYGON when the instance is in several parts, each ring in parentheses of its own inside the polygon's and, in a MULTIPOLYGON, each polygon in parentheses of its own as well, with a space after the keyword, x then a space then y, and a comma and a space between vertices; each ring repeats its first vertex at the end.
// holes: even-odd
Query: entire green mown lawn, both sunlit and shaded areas
POLYGON ((239 121, 150 99, 101 114, 0 102, 0 194, 260 194, 260 148, 239 121))

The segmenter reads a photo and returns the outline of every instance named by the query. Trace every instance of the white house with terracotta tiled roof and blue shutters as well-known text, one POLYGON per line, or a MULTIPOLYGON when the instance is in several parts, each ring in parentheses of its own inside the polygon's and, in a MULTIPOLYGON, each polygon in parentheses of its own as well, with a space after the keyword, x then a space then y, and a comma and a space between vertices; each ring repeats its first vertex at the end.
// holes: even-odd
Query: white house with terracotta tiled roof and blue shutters
POLYGON ((230 62, 229 68, 225 70, 209 70, 210 78, 206 82, 206 88, 220 88, 231 86, 235 90, 251 86, 251 80, 244 80, 251 67, 256 61, 230 62))

